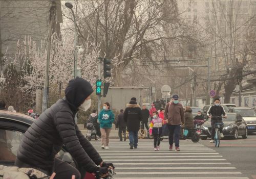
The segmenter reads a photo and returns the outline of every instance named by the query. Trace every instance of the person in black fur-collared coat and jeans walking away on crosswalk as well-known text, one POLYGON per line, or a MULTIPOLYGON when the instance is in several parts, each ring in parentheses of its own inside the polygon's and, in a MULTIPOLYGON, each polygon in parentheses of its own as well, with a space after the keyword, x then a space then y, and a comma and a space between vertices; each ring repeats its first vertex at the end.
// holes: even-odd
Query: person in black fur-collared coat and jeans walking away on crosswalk
POLYGON ((129 131, 130 149, 138 148, 138 132, 140 130, 140 121, 142 120, 142 113, 140 106, 135 100, 131 100, 127 104, 127 108, 123 113, 124 122, 127 124, 129 131))

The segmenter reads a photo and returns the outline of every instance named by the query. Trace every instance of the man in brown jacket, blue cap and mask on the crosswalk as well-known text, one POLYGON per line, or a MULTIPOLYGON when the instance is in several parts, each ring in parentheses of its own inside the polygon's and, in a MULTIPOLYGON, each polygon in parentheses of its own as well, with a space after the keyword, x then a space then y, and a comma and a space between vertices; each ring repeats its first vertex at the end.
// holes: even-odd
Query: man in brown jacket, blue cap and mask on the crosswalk
POLYGON ((167 119, 169 129, 169 150, 173 150, 175 140, 175 150, 180 151, 180 130, 181 123, 184 123, 184 110, 179 103, 179 96, 173 95, 173 102, 166 105, 164 110, 164 118, 167 119))

